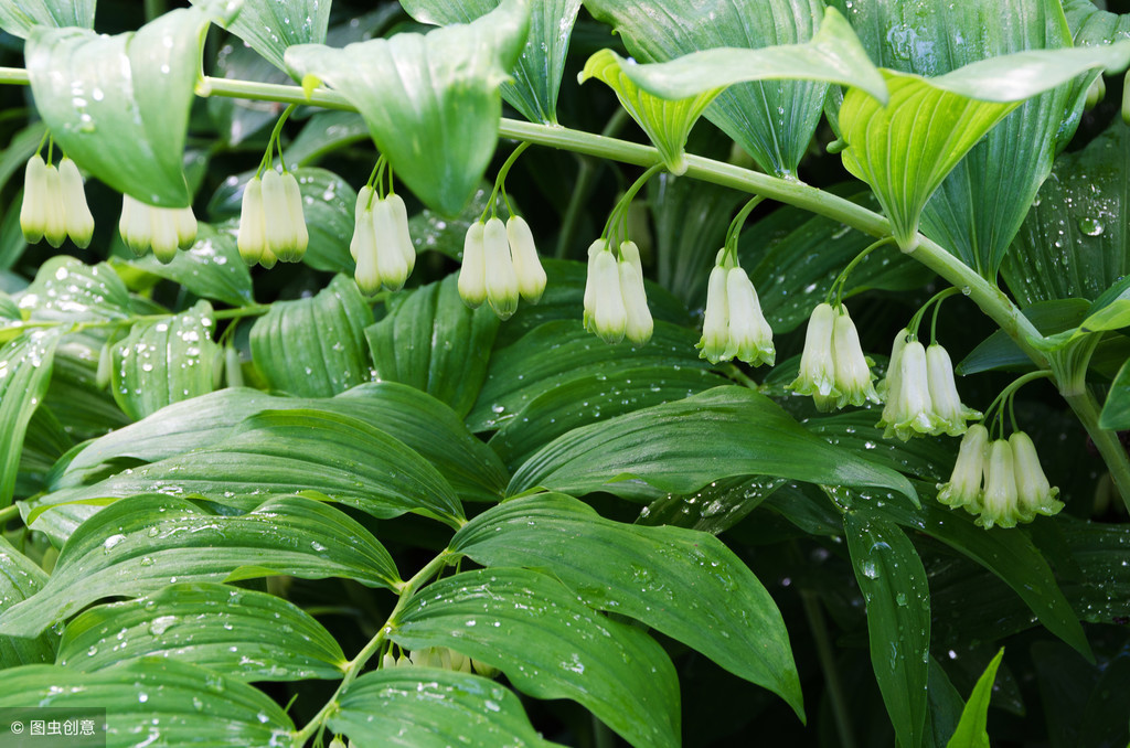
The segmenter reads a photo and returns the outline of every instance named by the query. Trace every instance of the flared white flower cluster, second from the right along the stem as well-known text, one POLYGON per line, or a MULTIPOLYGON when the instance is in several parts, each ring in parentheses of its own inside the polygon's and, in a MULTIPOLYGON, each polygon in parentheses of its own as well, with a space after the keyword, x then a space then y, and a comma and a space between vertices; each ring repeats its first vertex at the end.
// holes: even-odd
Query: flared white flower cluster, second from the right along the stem
POLYGON ((904 442, 918 434, 960 436, 967 420, 981 412, 962 403, 954 381, 954 364, 937 342, 929 348, 911 340, 906 329, 895 336, 887 376, 879 389, 886 400, 878 426, 884 436, 904 442))

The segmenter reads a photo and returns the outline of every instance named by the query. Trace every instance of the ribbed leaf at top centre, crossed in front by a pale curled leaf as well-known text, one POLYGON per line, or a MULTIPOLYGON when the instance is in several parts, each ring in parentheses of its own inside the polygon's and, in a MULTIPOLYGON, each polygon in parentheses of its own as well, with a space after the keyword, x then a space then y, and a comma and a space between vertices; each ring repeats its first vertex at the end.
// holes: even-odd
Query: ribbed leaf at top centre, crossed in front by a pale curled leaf
MULTIPOLYGON (((816 0, 672 0, 663 3, 662 12, 641 3, 588 0, 585 8, 597 20, 610 24, 640 62, 666 62, 713 47, 807 42, 824 12, 816 0)), ((791 179, 820 121, 826 93, 827 85, 818 81, 738 84, 707 107, 706 119, 762 169, 791 179)))

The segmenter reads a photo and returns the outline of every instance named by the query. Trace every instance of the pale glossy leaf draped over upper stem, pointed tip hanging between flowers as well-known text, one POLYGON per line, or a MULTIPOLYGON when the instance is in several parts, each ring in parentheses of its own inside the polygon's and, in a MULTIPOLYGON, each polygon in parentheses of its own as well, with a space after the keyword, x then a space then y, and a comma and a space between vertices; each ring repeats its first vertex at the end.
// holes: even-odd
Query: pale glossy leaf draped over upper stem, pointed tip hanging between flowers
POLYGON ((324 81, 357 107, 377 149, 420 200, 445 215, 467 203, 498 139, 498 86, 529 29, 527 0, 503 0, 467 25, 332 50, 286 52, 304 87, 324 81))

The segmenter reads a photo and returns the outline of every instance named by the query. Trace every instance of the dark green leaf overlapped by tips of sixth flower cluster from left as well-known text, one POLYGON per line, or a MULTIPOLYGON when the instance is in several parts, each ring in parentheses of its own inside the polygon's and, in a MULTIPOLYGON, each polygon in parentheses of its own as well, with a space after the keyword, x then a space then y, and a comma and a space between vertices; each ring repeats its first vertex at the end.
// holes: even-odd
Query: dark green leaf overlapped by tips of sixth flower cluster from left
POLYGON ((539 395, 557 388, 609 375, 617 369, 684 367, 705 371, 695 355, 698 334, 686 328, 655 323, 644 346, 609 346, 586 332, 579 320, 547 322, 490 358, 478 402, 467 416, 472 432, 497 428, 514 419, 539 395))

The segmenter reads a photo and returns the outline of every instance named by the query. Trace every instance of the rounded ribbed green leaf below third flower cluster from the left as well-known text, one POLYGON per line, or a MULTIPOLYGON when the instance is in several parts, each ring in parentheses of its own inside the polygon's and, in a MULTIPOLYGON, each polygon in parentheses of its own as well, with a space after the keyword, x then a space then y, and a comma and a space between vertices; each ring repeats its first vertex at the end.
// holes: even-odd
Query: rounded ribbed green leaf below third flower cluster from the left
POLYGON ((328 398, 368 381, 372 323, 357 284, 336 276, 313 298, 271 304, 251 328, 251 357, 272 389, 328 398))

